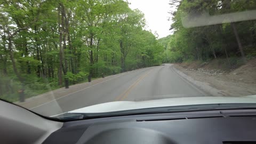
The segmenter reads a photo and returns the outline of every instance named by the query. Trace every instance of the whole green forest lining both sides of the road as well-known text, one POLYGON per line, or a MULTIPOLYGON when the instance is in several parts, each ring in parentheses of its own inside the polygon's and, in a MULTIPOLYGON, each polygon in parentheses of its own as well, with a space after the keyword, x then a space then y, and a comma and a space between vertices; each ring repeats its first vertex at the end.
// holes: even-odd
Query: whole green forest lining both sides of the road
POLYGON ((255 20, 182 23, 191 13, 252 11, 255 0, 170 0, 169 6, 171 35, 158 39, 146 30, 144 14, 123 0, 0 1, 0 98, 24 101, 161 63, 220 59, 234 69, 256 57, 255 20))

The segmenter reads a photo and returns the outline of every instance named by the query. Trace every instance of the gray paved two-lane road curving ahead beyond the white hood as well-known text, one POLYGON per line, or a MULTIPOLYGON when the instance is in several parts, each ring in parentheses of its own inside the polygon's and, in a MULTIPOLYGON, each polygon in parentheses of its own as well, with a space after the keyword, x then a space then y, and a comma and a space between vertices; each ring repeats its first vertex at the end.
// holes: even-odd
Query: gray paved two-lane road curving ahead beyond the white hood
POLYGON ((31 110, 52 116, 111 101, 141 101, 203 95, 202 91, 178 75, 171 64, 166 64, 130 71, 31 110))

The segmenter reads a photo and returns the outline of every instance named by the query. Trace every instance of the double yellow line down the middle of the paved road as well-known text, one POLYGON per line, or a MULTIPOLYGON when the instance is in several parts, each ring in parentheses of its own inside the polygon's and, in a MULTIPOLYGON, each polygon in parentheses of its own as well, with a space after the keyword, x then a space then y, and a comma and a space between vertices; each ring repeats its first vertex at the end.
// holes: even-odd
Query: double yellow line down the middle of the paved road
POLYGON ((134 89, 134 87, 137 86, 137 85, 140 83, 140 81, 141 81, 143 78, 145 78, 151 71, 152 71, 152 69, 149 70, 148 73, 146 73, 146 74, 140 76, 140 77, 137 79, 137 81, 134 82, 132 85, 130 85, 129 88, 128 88, 127 90, 125 90, 122 94, 120 94, 120 95, 115 99, 115 101, 122 101, 122 100, 124 100, 124 99, 127 97, 127 95, 131 92, 131 90, 134 89))

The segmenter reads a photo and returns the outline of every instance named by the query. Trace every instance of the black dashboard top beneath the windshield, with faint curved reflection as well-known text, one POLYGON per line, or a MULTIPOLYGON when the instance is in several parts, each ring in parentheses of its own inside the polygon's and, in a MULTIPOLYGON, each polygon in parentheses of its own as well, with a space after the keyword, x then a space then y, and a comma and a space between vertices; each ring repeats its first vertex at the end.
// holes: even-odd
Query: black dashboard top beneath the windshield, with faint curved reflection
POLYGON ((66 122, 43 143, 256 143, 256 110, 209 110, 66 122))

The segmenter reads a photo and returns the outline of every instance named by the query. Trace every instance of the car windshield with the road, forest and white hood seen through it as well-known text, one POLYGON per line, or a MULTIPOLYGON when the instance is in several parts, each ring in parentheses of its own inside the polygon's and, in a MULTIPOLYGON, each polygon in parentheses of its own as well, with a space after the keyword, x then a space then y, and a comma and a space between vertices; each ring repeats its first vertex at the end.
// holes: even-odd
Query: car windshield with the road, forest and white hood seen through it
POLYGON ((254 0, 0 2, 0 99, 40 115, 251 108, 255 94, 254 0))

